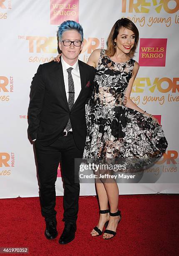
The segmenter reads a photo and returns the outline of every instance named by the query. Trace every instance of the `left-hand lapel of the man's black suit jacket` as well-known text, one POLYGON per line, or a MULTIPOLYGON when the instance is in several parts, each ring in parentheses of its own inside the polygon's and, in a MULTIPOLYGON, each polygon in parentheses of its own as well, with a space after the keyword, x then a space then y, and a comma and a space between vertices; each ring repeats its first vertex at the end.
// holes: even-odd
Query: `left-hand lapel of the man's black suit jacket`
POLYGON ((55 67, 55 78, 56 78, 57 90, 60 90, 60 100, 63 100, 66 107, 69 109, 68 102, 67 102, 67 95, 65 91, 65 83, 63 78, 63 69, 62 69, 61 61, 58 64, 58 66, 55 67))

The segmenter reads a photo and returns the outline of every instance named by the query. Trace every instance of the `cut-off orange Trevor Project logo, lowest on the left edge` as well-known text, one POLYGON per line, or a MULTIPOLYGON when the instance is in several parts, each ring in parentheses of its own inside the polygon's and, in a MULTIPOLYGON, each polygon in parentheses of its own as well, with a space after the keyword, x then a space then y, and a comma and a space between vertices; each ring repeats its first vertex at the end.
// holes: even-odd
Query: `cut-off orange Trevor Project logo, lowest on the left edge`
POLYGON ((15 154, 11 152, 0 152, 0 176, 9 176, 11 174, 10 167, 15 167, 15 154), (3 169, 7 167, 7 169, 3 169))

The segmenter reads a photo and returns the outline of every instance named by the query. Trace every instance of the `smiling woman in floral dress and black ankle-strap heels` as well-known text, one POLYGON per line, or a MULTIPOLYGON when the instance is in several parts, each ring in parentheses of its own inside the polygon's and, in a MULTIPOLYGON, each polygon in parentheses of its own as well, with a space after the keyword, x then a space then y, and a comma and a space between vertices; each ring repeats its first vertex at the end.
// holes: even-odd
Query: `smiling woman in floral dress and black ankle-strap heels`
MULTIPOLYGON (((87 62, 96 68, 96 76, 94 92, 86 107, 85 159, 149 160, 162 156, 167 148, 158 120, 130 100, 132 84, 139 70, 139 64, 132 59, 138 40, 139 32, 134 23, 127 18, 119 19, 109 34, 107 50, 93 51, 87 62), (125 96, 127 104, 124 106, 125 96)), ((116 182, 98 181, 96 188, 100 218, 91 234, 100 235, 106 223, 103 238, 109 239, 115 236, 121 219, 118 186, 116 182)))

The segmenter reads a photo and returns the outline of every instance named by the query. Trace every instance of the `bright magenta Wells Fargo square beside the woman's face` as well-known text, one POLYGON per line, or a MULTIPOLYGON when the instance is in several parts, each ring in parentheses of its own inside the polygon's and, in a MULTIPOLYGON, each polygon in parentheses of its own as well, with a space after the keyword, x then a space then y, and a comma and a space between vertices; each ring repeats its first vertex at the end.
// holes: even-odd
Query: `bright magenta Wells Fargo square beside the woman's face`
POLYGON ((142 67, 165 67, 167 38, 141 38, 139 65, 142 67))

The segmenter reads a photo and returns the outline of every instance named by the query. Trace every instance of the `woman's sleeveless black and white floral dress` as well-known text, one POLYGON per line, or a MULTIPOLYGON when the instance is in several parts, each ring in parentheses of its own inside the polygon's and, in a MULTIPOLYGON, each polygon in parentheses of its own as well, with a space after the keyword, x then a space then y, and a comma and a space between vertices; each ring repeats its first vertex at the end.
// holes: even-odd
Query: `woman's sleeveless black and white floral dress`
POLYGON ((167 148, 160 125, 122 102, 135 61, 117 64, 101 50, 94 92, 86 106, 83 158, 159 158, 167 148))

